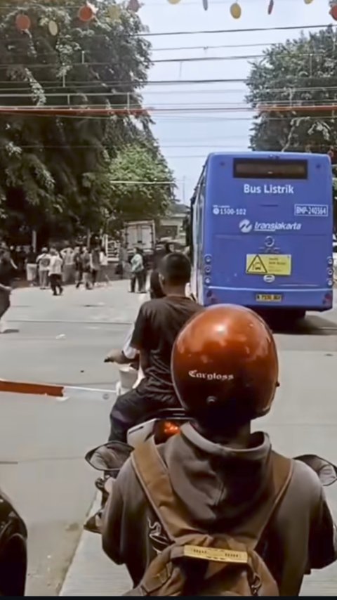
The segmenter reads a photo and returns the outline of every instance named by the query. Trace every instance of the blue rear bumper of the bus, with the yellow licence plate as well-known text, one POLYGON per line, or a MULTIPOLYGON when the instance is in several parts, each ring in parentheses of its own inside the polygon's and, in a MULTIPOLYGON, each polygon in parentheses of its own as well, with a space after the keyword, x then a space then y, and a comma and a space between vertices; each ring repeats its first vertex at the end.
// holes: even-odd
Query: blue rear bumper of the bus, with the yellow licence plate
POLYGON ((239 304, 239 306, 272 310, 298 308, 322 312, 333 308, 333 291, 329 287, 315 289, 208 287, 204 290, 204 306, 212 304, 239 304))

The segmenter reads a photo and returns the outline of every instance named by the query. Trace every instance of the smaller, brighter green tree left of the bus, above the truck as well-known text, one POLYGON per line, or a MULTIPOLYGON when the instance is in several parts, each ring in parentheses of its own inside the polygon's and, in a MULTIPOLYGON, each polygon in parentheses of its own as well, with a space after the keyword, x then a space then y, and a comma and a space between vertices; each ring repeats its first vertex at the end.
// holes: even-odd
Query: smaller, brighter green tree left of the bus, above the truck
POLYGON ((108 229, 120 230, 124 221, 159 219, 174 197, 173 176, 159 150, 150 143, 122 148, 108 169, 91 175, 90 186, 105 203, 108 229))

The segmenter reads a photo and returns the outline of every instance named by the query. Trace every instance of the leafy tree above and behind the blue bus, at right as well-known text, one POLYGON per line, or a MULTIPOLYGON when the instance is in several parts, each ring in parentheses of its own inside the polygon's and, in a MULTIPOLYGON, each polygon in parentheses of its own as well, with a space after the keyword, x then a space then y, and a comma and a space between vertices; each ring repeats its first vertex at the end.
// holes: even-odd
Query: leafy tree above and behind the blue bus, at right
MULTIPOLYGON (((267 48, 247 80, 253 150, 328 152, 337 148, 337 32, 327 27, 267 48), (264 107, 267 107, 263 109, 264 107), (279 107, 290 107, 284 112, 279 107), (275 107, 275 110, 274 110, 275 107)), ((331 152, 332 154, 332 152, 331 152)))

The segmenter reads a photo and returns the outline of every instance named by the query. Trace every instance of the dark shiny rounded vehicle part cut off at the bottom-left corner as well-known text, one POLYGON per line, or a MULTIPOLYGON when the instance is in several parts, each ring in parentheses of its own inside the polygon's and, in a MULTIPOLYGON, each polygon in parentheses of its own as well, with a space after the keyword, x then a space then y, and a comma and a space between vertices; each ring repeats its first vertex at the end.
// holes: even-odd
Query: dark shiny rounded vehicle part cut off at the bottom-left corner
POLYGON ((26 577, 27 528, 0 491, 0 596, 24 596, 26 577))

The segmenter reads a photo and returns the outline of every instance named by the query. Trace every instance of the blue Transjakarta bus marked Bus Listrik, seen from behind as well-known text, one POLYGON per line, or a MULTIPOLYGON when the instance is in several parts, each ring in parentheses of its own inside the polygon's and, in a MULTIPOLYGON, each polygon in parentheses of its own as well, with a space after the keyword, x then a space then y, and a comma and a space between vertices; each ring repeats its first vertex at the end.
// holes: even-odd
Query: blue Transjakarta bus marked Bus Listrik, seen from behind
POLYGON ((333 305, 327 155, 217 152, 191 201, 192 292, 291 318, 333 305))

